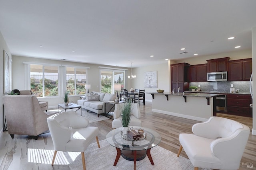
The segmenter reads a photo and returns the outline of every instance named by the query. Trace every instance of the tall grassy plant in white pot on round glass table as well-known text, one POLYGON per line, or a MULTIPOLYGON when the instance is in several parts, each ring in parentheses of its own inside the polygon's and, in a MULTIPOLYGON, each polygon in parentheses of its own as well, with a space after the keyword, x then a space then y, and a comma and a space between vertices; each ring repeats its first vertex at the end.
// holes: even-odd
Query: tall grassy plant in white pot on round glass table
POLYGON ((131 102, 124 103, 123 107, 120 107, 120 120, 123 126, 123 134, 127 135, 129 130, 129 123, 131 121, 131 114, 132 114, 132 104, 131 102))

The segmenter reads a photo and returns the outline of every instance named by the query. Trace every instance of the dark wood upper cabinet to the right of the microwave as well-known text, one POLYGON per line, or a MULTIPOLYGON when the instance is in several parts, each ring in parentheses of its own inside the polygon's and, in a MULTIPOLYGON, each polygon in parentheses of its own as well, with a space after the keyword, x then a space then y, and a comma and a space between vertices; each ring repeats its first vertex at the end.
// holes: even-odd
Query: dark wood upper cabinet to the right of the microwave
POLYGON ((252 59, 229 61, 228 68, 229 81, 249 81, 252 74, 252 59))

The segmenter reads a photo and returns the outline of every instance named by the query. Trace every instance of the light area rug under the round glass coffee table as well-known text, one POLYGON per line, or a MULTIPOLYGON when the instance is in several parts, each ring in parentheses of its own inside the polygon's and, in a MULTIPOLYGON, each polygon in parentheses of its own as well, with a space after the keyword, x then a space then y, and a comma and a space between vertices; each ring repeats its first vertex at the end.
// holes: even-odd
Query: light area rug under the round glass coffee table
MULTIPOLYGON (((162 147, 156 146, 151 149, 152 159, 155 165, 151 165, 148 157, 143 160, 137 161, 137 170, 193 170, 194 167, 190 160, 182 156, 177 157, 176 153, 170 152, 162 147)), ((76 152, 77 153, 77 152, 76 152)), ((82 169, 81 154, 77 153, 76 156, 69 152, 64 152, 62 156, 65 156, 70 164, 68 165, 70 170, 82 169), (73 157, 73 159, 72 159, 73 157), (75 157, 75 158, 74 158, 75 157)), ((106 140, 100 141, 100 148, 97 143, 92 143, 84 152, 86 170, 133 170, 134 162, 125 160, 120 156, 117 165, 113 166, 116 158, 116 149, 109 145, 106 140)), ((210 170, 200 168, 200 170, 210 170)))

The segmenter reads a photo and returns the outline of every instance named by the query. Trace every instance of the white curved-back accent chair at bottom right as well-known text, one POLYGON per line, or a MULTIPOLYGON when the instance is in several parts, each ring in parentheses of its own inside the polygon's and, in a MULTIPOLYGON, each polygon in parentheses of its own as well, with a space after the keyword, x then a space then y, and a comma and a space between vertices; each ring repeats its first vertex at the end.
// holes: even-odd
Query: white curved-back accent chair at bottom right
POLYGON ((180 134, 182 148, 194 166, 220 170, 238 170, 250 135, 246 125, 223 117, 210 117, 192 127, 194 134, 180 134))

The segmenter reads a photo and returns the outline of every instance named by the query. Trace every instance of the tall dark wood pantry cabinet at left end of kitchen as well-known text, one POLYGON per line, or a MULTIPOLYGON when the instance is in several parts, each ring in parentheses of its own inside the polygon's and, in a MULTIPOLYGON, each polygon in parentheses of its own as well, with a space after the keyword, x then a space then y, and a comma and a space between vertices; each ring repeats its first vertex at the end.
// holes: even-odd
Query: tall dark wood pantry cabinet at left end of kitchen
POLYGON ((188 63, 171 64, 171 84, 172 90, 180 92, 188 90, 188 63))

